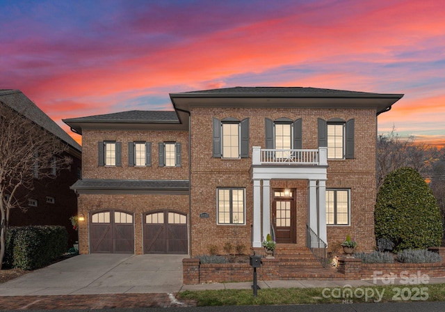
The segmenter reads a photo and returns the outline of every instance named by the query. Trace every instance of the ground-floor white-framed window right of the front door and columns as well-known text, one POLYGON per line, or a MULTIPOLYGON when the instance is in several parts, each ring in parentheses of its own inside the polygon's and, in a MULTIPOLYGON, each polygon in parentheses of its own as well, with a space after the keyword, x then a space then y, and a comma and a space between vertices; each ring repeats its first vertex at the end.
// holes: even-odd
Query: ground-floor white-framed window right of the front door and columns
POLYGON ((349 194, 349 189, 326 189, 326 224, 349 225, 349 194))

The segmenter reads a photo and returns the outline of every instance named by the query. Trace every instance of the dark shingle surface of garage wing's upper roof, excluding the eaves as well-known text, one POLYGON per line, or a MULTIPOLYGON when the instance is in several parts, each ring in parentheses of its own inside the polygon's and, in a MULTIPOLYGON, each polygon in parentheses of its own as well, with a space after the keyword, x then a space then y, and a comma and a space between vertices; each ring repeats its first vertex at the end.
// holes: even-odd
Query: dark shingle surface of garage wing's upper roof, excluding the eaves
POLYGON ((64 119, 83 123, 179 123, 176 111, 121 111, 119 113, 64 119))

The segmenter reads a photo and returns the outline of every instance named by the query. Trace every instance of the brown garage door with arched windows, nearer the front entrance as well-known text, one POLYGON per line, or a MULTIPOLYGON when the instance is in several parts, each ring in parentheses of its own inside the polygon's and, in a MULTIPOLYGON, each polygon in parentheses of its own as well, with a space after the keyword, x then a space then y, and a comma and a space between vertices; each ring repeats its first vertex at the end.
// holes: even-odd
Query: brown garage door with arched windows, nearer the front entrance
POLYGON ((186 214, 166 210, 145 214, 144 253, 187 252, 186 214))

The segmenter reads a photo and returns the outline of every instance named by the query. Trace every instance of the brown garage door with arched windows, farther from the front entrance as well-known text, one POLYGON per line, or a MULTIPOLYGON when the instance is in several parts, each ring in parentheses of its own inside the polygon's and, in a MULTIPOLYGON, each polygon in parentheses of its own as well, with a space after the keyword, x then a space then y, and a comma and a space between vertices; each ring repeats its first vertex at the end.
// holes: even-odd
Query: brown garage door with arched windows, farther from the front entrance
POLYGON ((108 210, 90 214, 91 253, 134 253, 134 218, 108 210))

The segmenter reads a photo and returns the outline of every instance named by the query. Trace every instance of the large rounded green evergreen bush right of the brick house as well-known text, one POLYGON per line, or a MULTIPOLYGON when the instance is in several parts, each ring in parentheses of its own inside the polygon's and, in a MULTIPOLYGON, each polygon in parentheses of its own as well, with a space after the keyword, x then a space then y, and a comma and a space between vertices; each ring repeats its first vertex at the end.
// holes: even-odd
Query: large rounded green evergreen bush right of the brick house
POLYGON ((383 182, 375 204, 375 237, 394 251, 440 246, 442 219, 435 196, 412 168, 396 169, 383 182))

